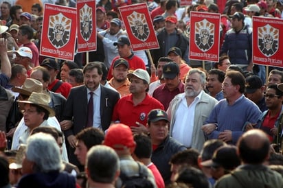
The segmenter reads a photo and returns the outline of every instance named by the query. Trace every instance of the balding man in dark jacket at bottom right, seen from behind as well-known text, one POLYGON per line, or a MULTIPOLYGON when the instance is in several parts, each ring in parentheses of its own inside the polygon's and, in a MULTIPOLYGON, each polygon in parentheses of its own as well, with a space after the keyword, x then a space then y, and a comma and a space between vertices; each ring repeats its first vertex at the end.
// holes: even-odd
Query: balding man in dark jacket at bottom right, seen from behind
POLYGON ((282 176, 263 164, 269 158, 269 147, 269 138, 262 130, 242 134, 237 144, 242 165, 218 180, 215 187, 283 187, 282 176))

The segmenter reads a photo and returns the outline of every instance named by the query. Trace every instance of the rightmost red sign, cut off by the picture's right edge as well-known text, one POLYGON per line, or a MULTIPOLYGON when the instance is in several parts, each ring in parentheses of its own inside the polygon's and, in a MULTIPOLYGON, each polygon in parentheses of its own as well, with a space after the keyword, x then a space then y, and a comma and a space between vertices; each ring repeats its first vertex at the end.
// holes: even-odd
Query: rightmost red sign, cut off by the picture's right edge
POLYGON ((253 16, 253 63, 283 67, 283 20, 253 16))

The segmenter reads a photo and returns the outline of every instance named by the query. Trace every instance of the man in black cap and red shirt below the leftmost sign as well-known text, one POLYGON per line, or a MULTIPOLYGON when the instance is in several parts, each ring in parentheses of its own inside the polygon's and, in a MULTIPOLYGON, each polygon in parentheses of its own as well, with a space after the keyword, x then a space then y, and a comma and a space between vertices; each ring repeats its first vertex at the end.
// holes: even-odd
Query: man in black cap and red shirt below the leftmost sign
POLYGON ((65 98, 67 98, 71 90, 71 84, 56 79, 59 73, 59 64, 54 59, 46 58, 43 60, 41 66, 45 67, 50 74, 50 82, 48 86, 49 91, 61 93, 65 98))

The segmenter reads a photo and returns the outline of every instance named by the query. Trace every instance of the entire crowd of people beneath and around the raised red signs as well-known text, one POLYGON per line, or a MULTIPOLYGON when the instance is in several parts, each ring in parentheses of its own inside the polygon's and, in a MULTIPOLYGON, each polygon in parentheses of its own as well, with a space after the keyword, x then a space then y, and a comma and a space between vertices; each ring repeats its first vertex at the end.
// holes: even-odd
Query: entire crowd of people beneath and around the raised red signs
POLYGON ((100 0, 97 50, 73 61, 39 51, 44 3, 75 0, 0 2, 0 188, 283 187, 283 71, 251 37, 282 0, 100 0), (133 51, 132 3, 159 49, 133 51), (190 60, 190 11, 221 14, 219 62, 190 60))

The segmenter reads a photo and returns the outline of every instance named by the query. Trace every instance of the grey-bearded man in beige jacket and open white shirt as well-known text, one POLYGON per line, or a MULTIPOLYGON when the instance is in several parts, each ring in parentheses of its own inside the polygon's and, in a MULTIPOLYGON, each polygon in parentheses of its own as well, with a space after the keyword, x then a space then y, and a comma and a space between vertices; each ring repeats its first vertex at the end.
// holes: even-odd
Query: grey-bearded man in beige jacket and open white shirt
POLYGON ((170 136, 199 152, 205 143, 201 127, 217 103, 203 91, 205 77, 203 71, 191 69, 185 78, 185 93, 174 97, 167 110, 171 119, 170 136))

